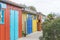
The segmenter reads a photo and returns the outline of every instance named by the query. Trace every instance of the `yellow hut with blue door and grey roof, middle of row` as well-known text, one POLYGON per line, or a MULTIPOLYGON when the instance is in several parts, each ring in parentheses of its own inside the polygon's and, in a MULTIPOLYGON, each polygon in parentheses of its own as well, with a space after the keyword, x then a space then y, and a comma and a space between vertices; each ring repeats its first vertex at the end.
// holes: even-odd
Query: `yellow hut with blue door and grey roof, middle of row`
POLYGON ((30 10, 28 8, 23 9, 23 20, 24 20, 24 28, 26 34, 30 34, 32 32, 37 31, 37 12, 30 10))

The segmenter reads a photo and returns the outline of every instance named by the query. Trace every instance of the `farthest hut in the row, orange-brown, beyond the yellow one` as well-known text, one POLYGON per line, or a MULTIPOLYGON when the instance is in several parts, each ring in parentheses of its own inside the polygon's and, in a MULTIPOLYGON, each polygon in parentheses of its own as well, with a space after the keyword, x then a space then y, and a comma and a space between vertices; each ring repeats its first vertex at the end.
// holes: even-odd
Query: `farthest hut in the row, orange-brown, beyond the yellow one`
POLYGON ((43 23, 43 20, 45 20, 45 18, 46 18, 46 16, 44 14, 42 14, 41 12, 38 12, 38 22, 37 22, 38 31, 42 30, 42 23, 43 23))

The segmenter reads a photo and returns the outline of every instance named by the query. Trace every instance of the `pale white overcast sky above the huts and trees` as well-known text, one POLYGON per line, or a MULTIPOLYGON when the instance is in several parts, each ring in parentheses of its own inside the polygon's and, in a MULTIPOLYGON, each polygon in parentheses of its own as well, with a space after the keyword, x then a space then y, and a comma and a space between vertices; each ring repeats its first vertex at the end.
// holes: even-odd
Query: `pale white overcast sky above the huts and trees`
POLYGON ((60 0, 11 0, 18 4, 34 6, 38 12, 47 15, 50 12, 60 13, 60 0))

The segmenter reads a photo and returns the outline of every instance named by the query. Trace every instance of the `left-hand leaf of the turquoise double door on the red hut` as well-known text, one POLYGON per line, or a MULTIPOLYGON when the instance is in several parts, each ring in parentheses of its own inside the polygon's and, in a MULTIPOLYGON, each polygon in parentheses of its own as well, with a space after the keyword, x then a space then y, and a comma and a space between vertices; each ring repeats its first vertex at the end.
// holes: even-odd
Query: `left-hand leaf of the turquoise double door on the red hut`
POLYGON ((14 40, 14 10, 10 10, 10 40, 14 40))

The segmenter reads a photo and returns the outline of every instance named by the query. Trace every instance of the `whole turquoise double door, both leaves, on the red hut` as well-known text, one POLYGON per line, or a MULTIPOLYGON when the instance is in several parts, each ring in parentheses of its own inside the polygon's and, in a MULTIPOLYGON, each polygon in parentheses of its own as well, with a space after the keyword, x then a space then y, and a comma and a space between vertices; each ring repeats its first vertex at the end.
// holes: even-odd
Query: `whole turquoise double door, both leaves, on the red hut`
POLYGON ((10 10, 10 40, 18 39, 18 11, 10 10))

